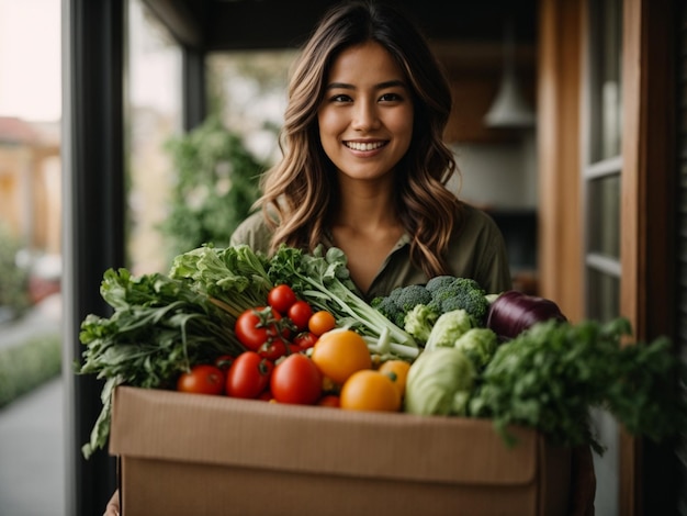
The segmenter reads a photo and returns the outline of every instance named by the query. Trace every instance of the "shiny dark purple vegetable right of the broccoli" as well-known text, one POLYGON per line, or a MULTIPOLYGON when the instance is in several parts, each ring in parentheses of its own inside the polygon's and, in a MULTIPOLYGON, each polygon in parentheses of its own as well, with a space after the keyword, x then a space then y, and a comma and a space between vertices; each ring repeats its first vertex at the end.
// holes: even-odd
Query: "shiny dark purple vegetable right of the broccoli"
POLYGON ((486 327, 500 338, 510 339, 530 326, 551 318, 567 321, 553 301, 509 290, 489 306, 486 327))

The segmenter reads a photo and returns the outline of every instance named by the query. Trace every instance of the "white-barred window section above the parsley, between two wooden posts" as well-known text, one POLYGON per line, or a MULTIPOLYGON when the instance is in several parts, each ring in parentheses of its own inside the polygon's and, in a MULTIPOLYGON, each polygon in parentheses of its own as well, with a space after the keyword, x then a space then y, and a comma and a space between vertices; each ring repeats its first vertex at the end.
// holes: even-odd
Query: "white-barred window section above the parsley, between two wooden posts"
MULTIPOLYGON (((621 144, 621 1, 589 2, 589 52, 583 160, 587 317, 619 312, 621 144)), ((584 139, 583 139, 584 142, 584 139)))

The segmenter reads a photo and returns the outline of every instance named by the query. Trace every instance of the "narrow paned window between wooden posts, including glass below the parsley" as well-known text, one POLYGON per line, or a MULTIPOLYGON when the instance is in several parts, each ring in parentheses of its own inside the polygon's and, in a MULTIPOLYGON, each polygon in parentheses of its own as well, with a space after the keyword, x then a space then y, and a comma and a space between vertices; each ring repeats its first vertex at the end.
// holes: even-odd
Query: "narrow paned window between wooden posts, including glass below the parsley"
MULTIPOLYGON (((587 9, 582 124, 585 317, 609 321, 620 314, 622 1, 589 0, 587 9)), ((602 457, 594 456, 596 511, 618 514, 619 428, 601 410, 593 413, 593 426, 608 447, 602 457)))

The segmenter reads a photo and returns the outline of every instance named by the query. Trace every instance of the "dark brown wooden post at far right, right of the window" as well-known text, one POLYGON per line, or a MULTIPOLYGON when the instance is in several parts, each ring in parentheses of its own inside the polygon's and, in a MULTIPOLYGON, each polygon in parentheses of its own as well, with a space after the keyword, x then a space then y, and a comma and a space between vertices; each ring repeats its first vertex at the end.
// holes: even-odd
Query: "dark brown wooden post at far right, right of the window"
MULTIPOLYGON (((675 32, 671 0, 623 2, 623 137, 621 191, 620 312, 633 338, 674 335, 676 271, 674 243, 677 175, 675 164, 675 32), (655 302, 661 300, 660 303, 655 302)), ((644 506, 669 504, 645 496, 660 471, 644 470, 642 442, 620 435, 620 514, 643 514, 644 506), (646 481, 644 482, 643 479, 646 481)), ((661 511, 658 511, 661 512, 661 511)))

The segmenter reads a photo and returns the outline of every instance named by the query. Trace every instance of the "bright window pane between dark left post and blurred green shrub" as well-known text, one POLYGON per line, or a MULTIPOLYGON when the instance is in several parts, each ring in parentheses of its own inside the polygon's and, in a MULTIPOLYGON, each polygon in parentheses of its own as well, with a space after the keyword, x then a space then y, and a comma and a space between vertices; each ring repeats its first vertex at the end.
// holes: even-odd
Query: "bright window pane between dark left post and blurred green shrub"
POLYGON ((126 23, 126 259, 134 273, 166 272, 158 225, 173 181, 165 142, 181 131, 181 48, 140 0, 129 0, 126 23))

